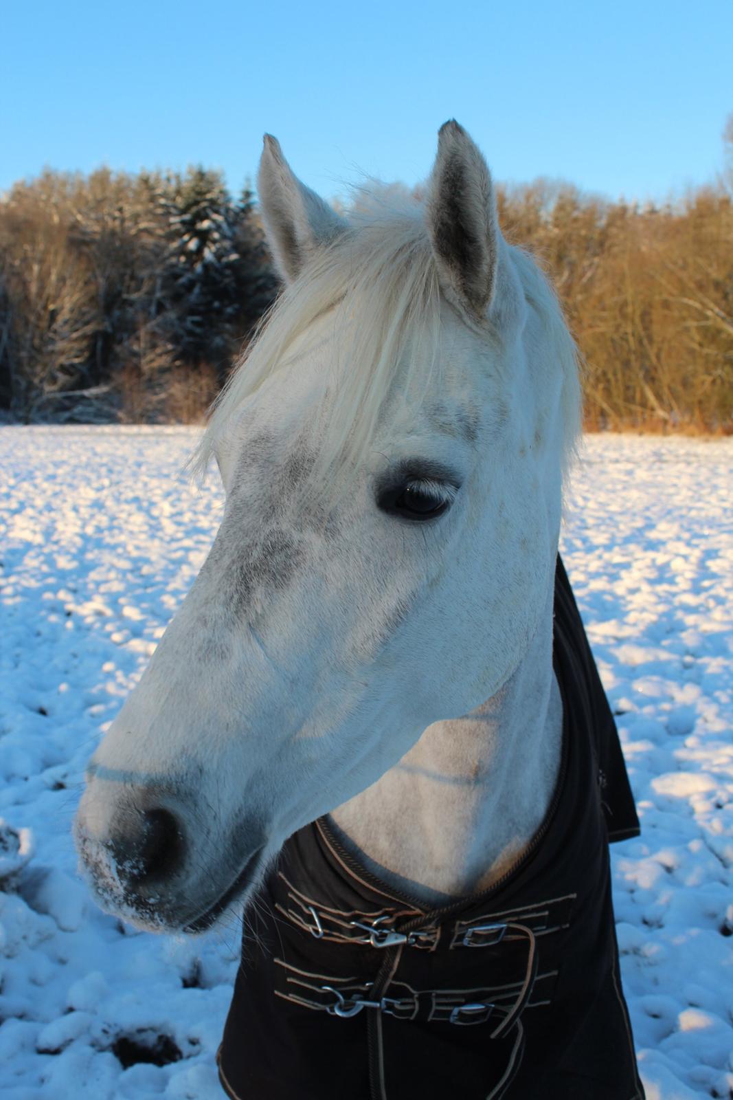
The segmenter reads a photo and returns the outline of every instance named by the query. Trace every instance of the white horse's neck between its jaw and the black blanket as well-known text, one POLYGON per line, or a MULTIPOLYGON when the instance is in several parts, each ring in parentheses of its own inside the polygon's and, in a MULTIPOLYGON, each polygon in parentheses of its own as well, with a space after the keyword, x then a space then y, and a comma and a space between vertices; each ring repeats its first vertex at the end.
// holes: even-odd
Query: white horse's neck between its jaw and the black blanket
POLYGON ((438 903, 486 889, 531 843, 555 790, 563 706, 553 585, 522 663, 470 714, 424 730, 402 760, 332 814, 387 884, 438 903))

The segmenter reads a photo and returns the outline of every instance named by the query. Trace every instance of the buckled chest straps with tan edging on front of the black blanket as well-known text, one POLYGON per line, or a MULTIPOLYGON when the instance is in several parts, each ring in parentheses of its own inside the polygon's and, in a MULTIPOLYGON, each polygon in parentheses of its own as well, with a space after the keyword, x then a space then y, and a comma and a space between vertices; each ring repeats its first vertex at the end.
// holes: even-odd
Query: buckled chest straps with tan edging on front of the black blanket
POLYGON ((487 1100, 501 1100, 522 1062, 522 1013, 526 1008, 549 1003, 557 977, 556 970, 537 974, 537 938, 569 926, 575 893, 492 912, 476 912, 478 906, 467 912, 456 903, 425 913, 407 904, 395 904, 393 899, 381 908, 363 911, 325 905, 299 890, 281 871, 278 880, 275 908, 290 924, 315 939, 368 946, 384 956, 374 981, 308 974, 282 959, 275 960, 286 972, 284 987, 275 990, 276 996, 335 1019, 351 1019, 366 1012, 373 1100, 387 1100, 385 1016, 490 1028, 487 1040, 496 1045, 496 1062, 504 1068, 487 1092, 487 1100), (512 941, 523 942, 526 950, 523 977, 515 982, 417 990, 397 978, 400 958, 408 949, 490 949, 512 941))

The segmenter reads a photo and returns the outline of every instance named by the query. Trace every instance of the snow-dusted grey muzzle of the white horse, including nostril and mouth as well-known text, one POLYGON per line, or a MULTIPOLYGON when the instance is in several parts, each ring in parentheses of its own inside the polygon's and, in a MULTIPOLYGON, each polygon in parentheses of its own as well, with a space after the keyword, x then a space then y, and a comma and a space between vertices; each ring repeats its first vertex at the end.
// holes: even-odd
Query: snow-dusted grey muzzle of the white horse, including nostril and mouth
POLYGON ((181 784, 93 762, 74 831, 97 902, 152 931, 202 932, 260 870, 264 829, 252 817, 222 835, 181 784))

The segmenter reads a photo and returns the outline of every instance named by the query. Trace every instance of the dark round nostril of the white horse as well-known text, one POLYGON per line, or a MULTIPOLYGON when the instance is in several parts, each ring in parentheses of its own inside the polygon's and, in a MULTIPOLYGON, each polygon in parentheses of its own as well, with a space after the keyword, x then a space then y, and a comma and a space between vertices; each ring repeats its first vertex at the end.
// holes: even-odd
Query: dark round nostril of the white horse
POLYGON ((184 833, 176 817, 169 810, 145 810, 133 822, 110 844, 120 878, 136 886, 143 879, 170 875, 184 851, 184 833))

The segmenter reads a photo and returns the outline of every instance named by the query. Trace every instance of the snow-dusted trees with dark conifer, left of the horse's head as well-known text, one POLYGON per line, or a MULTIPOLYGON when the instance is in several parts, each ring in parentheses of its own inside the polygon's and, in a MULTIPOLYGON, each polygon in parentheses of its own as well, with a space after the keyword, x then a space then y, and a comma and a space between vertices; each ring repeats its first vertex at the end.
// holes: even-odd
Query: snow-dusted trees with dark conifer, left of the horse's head
POLYGON ((0 200, 0 408, 197 419, 276 293, 220 173, 45 172, 0 200))

